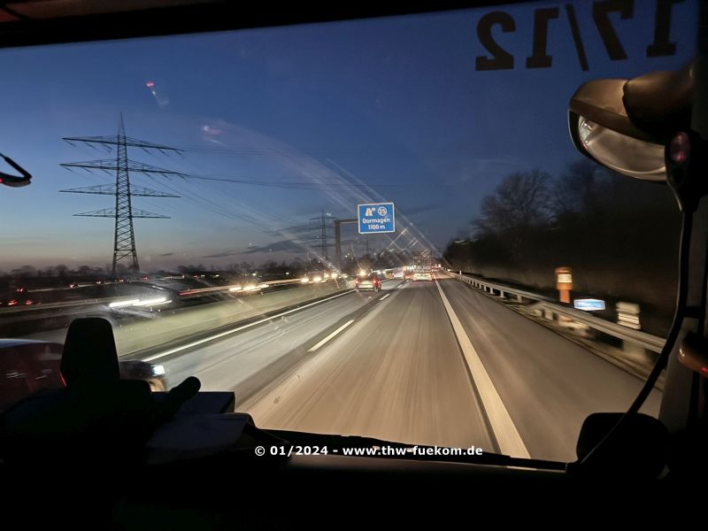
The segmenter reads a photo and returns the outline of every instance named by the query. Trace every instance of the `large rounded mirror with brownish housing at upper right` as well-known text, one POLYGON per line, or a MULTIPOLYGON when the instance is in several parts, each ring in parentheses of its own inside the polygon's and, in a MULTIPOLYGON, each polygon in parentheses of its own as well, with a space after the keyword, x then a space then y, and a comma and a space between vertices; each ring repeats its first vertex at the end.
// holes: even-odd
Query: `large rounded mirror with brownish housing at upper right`
POLYGON ((689 130, 692 65, 633 80, 588 81, 575 91, 568 128, 575 147, 615 172, 666 181, 666 145, 689 130))

